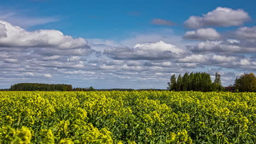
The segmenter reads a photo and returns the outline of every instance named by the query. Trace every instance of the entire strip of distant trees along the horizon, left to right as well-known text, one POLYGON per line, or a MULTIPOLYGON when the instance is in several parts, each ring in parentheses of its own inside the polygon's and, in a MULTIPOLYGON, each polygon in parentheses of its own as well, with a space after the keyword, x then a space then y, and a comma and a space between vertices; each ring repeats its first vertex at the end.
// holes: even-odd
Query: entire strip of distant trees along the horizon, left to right
POLYGON ((184 75, 172 75, 167 89, 132 89, 132 88, 112 88, 94 89, 73 88, 66 84, 45 84, 45 83, 17 83, 9 89, 0 91, 229 91, 229 92, 256 92, 256 77, 253 73, 242 74, 236 77, 234 85, 223 87, 220 81, 220 74, 216 73, 215 80, 212 82, 208 73, 185 73, 184 75))

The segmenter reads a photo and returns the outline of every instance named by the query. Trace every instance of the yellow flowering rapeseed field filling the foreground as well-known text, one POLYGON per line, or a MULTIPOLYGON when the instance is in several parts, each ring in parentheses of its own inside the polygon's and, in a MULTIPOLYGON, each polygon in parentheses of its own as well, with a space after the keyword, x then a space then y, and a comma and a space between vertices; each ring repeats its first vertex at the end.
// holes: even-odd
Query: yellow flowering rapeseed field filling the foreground
POLYGON ((0 143, 256 143, 256 93, 0 92, 0 143))

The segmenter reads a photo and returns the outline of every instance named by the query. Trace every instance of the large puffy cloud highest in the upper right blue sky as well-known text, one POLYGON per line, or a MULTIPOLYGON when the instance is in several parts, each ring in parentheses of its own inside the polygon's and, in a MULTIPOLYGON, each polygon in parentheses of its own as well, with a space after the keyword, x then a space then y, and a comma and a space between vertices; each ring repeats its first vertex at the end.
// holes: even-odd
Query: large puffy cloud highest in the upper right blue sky
POLYGON ((228 27, 228 26, 241 26, 246 21, 250 20, 249 14, 242 10, 233 10, 230 8, 218 7, 213 11, 203 14, 203 16, 190 16, 185 21, 185 26, 189 28, 201 27, 228 27))

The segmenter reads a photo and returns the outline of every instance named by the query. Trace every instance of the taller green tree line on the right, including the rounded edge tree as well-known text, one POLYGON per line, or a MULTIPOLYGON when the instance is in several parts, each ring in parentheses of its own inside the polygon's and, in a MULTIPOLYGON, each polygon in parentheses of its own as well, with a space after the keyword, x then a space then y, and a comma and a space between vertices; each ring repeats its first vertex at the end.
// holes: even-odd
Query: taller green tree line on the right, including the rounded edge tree
POLYGON ((185 73, 178 77, 172 75, 170 82, 167 83, 167 89, 170 91, 230 91, 230 92, 256 92, 256 77, 253 73, 242 74, 237 77, 234 85, 223 87, 220 80, 220 74, 215 74, 215 80, 212 82, 208 73, 185 73))

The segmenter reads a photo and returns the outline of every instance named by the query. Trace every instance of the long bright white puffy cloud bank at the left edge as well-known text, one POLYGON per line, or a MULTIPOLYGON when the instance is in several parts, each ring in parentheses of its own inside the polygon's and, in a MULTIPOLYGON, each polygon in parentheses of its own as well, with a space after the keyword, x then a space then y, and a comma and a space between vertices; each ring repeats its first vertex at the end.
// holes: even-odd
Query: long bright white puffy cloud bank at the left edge
POLYGON ((60 49, 75 49, 88 46, 83 38, 73 39, 69 35, 53 29, 42 29, 28 32, 18 26, 13 26, 9 22, 0 21, 0 32, 4 28, 6 36, 0 37, 1 47, 59 47, 60 49), (4 27, 3 27, 4 25, 4 27))

